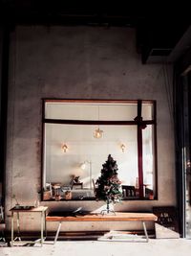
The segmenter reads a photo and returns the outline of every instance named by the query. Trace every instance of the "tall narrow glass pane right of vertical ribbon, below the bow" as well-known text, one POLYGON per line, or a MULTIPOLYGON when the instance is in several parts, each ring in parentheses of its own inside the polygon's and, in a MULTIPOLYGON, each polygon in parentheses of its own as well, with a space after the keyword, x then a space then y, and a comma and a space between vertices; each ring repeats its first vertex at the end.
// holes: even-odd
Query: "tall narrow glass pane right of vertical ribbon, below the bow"
POLYGON ((153 199, 155 187, 155 152, 153 126, 142 130, 143 184, 146 198, 153 199))

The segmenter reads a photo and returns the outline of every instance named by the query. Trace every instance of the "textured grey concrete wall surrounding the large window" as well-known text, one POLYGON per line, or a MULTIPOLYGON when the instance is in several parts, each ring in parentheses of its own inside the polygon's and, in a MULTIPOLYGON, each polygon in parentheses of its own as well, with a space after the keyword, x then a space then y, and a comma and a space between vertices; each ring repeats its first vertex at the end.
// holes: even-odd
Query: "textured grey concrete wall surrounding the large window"
MULTIPOLYGON (((116 210, 176 205, 174 139, 161 64, 141 64, 131 28, 17 27, 11 34, 6 216, 16 195, 31 205, 41 184, 42 98, 157 100, 159 200, 124 201, 116 210)), ((41 202, 50 209, 95 210, 96 201, 41 202)), ((37 219, 24 229, 38 229, 37 219)), ((29 221, 29 220, 28 220, 29 221)), ((126 226, 116 223, 118 228, 126 226)), ((55 224, 50 224, 54 228, 55 224)), ((107 229, 111 223, 68 224, 66 229, 107 229)), ((138 227, 138 226, 137 226, 138 227)))

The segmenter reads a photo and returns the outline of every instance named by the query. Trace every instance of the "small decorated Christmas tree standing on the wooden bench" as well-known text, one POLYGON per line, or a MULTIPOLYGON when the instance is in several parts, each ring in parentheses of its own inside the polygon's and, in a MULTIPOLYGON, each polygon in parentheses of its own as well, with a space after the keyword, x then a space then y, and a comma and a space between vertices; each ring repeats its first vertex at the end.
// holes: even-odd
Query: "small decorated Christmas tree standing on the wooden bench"
POLYGON ((107 201, 107 213, 109 213, 110 202, 119 202, 122 198, 121 181, 117 177, 117 161, 111 154, 102 167, 101 175, 96 180, 96 199, 107 201))

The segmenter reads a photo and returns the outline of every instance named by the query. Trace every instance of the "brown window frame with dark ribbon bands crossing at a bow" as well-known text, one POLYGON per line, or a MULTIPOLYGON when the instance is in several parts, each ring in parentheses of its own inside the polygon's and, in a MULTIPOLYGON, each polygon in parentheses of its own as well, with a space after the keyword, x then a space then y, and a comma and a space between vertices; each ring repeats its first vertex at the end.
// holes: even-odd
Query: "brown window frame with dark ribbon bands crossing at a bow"
MULTIPOLYGON (((74 100, 74 99, 42 99, 42 168, 41 168, 41 188, 44 189, 46 180, 44 175, 44 143, 45 143, 45 125, 46 124, 64 124, 64 125, 115 125, 115 126, 137 126, 137 141, 138 141, 138 183, 139 183, 139 198, 132 198, 133 200, 144 199, 151 200, 143 197, 143 153, 142 153, 142 129, 148 125, 154 127, 154 170, 155 170, 155 196, 153 199, 158 199, 158 158, 157 158, 157 103, 155 100, 74 100), (64 120, 64 119, 49 119, 45 117, 46 103, 95 103, 95 104, 136 104, 137 105, 137 116, 133 121, 104 121, 104 120, 64 120), (153 118, 151 120, 143 120, 141 116, 142 104, 153 105, 153 118)), ((43 200, 43 195, 42 198, 43 200)), ((129 198, 128 198, 129 199, 129 198)), ((75 200, 75 199, 73 199, 75 200)), ((86 200, 86 199, 83 199, 86 200)), ((125 200, 125 199, 124 199, 125 200)))

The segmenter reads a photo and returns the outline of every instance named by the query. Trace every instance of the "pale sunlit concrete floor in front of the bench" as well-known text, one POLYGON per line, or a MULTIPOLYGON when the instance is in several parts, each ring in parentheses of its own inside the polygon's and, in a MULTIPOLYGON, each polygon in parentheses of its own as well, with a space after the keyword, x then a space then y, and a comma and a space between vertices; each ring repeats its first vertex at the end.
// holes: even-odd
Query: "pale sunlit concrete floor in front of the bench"
POLYGON ((188 256, 191 240, 150 239, 149 243, 59 241, 43 246, 0 247, 1 256, 188 256))

